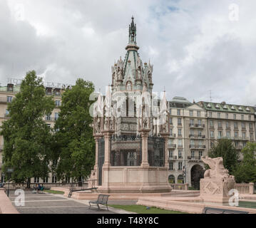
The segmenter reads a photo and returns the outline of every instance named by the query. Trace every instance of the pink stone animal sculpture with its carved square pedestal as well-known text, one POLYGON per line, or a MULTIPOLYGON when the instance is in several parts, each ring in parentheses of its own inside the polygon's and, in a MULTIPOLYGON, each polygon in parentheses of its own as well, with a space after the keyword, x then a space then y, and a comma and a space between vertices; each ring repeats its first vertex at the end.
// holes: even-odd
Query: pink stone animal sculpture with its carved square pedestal
POLYGON ((223 166, 222 157, 201 157, 210 170, 200 180, 200 197, 205 202, 228 202, 228 192, 234 188, 235 178, 223 166))

